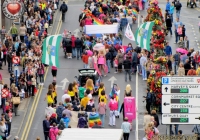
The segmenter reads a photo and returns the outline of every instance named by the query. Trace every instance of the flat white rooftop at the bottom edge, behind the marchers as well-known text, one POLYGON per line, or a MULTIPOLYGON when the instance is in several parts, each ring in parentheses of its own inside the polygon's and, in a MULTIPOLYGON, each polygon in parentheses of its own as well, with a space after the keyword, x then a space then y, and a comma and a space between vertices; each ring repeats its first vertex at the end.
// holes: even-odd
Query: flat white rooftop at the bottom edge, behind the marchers
POLYGON ((64 129, 58 140, 121 140, 122 129, 64 129))

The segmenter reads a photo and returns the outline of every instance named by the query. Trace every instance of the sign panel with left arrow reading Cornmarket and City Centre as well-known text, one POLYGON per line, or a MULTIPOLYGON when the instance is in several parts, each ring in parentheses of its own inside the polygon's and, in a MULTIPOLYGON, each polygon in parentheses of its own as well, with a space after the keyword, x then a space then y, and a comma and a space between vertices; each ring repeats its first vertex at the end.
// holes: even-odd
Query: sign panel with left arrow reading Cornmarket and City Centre
POLYGON ((200 113, 200 95, 163 95, 162 113, 200 113))

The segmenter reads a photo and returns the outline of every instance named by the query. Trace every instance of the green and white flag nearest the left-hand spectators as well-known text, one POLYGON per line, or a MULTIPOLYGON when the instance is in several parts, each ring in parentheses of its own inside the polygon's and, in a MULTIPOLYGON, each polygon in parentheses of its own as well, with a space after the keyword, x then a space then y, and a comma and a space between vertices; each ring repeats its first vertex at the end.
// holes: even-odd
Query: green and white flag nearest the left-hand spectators
POLYGON ((42 63, 59 67, 59 49, 61 41, 61 35, 51 35, 44 39, 42 44, 42 63))

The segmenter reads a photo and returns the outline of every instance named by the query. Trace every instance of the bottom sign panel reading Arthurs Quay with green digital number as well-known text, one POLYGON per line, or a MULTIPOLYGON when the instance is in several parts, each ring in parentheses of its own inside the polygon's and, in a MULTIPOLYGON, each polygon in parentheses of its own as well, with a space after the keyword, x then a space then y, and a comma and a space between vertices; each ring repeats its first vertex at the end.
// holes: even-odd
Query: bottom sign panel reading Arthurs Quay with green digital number
POLYGON ((200 124, 200 114, 162 114, 162 124, 200 124))

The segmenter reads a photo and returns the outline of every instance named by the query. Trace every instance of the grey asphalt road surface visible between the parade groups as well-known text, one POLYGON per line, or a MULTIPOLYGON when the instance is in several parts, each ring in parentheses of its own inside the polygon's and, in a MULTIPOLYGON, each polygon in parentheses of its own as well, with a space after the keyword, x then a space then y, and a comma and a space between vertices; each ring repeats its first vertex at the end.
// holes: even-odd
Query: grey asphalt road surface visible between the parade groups
MULTIPOLYGON (((82 9, 83 7, 83 1, 69 1, 68 6, 69 6, 69 11, 66 14, 66 22, 64 22, 61 26, 61 30, 60 33, 63 32, 64 29, 70 30, 70 31, 74 31, 75 29, 79 28, 78 25, 78 16, 81 12, 80 9, 82 9)), ((159 6, 161 8, 165 7, 165 3, 162 2, 159 4, 159 6)), ((198 9, 197 9, 198 10, 198 9)), ((190 9, 190 8, 186 8, 185 7, 185 3, 183 3, 183 8, 181 10, 181 21, 186 25, 186 34, 187 36, 189 36, 190 39, 190 46, 192 48, 197 49, 198 45, 196 42, 196 40, 198 41, 199 38, 199 33, 198 31, 198 11, 195 9, 190 9), (195 35, 194 35, 195 34, 195 35), (195 38, 196 37, 196 38, 195 38)), ((164 11, 164 9, 162 10, 164 11)), ((146 15, 145 12, 141 13, 142 15, 146 15)), ((56 16, 56 22, 59 21, 59 16, 60 14, 58 14, 56 16)), ((54 25, 54 27, 57 27, 57 24, 54 25)), ((133 31, 135 31, 137 28, 137 25, 134 26, 133 31)), ((53 30, 56 30, 53 28, 53 30)), ((55 32, 55 31, 53 31, 55 32)), ((173 47, 173 52, 175 53, 175 49, 176 49, 176 45, 174 45, 174 36, 170 37, 166 37, 166 39, 170 42, 170 45, 173 47)), ((123 44, 126 45, 128 44, 130 41, 127 39, 123 40, 123 44)), ((135 45, 134 42, 132 42, 132 44, 135 45)), ((57 83, 58 83, 58 101, 61 100, 61 96, 64 94, 64 91, 62 90, 61 86, 63 85, 63 83, 60 83, 63 79, 67 78, 68 81, 72 82, 74 81, 74 76, 78 75, 78 69, 83 67, 83 63, 80 60, 76 60, 76 59, 72 59, 72 60, 68 60, 64 58, 64 54, 62 49, 60 50, 60 68, 58 69, 58 75, 57 75, 57 83)), ((105 84, 106 87, 106 93, 108 94, 111 90, 111 83, 110 81, 108 81, 112 76, 114 76, 117 81, 115 81, 116 84, 119 85, 120 89, 121 89, 121 99, 123 99, 123 91, 125 89, 125 86, 127 84, 131 84, 132 89, 133 89, 133 95, 135 96, 135 75, 132 76, 132 82, 125 82, 124 80, 124 74, 114 74, 114 70, 112 69, 111 73, 107 75, 107 77, 103 78, 103 82, 105 84)), ((33 118, 33 122, 32 125, 30 127, 30 132, 28 134, 27 139, 28 140, 34 140, 37 136, 41 137, 42 139, 44 139, 43 137, 43 129, 42 129, 42 121, 44 119, 44 110, 45 107, 47 106, 46 101, 44 101, 46 92, 47 92, 47 88, 48 85, 52 82, 53 78, 51 75, 51 71, 49 70, 47 73, 47 77, 46 77, 46 81, 44 83, 43 89, 42 89, 42 93, 38 102, 38 106, 36 108, 36 112, 35 112, 35 116, 33 118)), ((143 132, 143 113, 145 112, 145 103, 143 103, 143 96, 146 94, 145 93, 145 89, 146 89, 146 83, 141 79, 141 77, 139 76, 139 80, 137 81, 139 83, 139 107, 138 107, 138 112, 139 112, 139 116, 138 116, 138 121, 139 121, 139 139, 142 139, 142 137, 144 136, 144 132, 143 132)), ((68 84, 66 85, 65 89, 67 88, 68 84)), ((160 118, 161 119, 161 118, 160 118)), ((106 128, 111 128, 109 127, 108 124, 108 120, 109 117, 106 116, 106 122, 105 122, 105 127, 106 128)), ((27 122, 30 123, 30 122, 27 122)), ((116 128, 120 128, 122 123, 122 117, 120 116, 119 119, 117 119, 116 121, 116 128)), ((133 127, 135 127, 135 122, 133 122, 133 127)), ((114 129, 114 128, 113 128, 114 129)), ((181 125, 179 127, 179 129, 183 130, 184 134, 190 134, 191 133, 191 129, 192 126, 191 125, 181 125)), ((161 134, 165 134, 166 133, 166 125, 161 125, 159 126, 159 131, 161 134)), ((134 139, 135 136, 135 131, 131 132, 130 135, 130 139, 134 139)))

